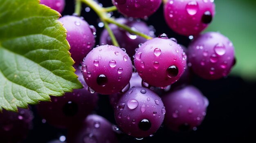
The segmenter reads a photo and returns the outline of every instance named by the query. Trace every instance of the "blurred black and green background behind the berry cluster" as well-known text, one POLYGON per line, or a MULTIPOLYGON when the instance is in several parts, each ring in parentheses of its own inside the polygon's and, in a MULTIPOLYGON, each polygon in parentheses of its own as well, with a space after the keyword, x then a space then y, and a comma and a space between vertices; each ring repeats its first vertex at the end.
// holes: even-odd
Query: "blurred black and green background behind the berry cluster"
MULTIPOLYGON (((111 0, 99 0, 103 7, 112 6, 111 0)), ((252 139, 256 131, 256 117, 254 103, 256 101, 256 0, 215 0, 216 15, 206 31, 219 31, 229 37, 236 52, 236 65, 231 74, 223 79, 207 81, 193 76, 192 85, 199 88, 209 99, 207 115, 196 131, 177 133, 161 127, 153 137, 141 141, 130 136, 121 136, 121 143, 170 143, 185 141, 237 141, 238 139, 252 139)), ((83 5, 82 16, 97 29, 96 44, 103 30, 99 27, 99 19, 92 10, 85 11, 83 5)), ((62 15, 72 15, 74 1, 66 0, 62 15)), ((118 12, 114 12, 119 17, 118 12)), ((156 29, 155 35, 166 33, 175 37, 179 44, 187 46, 190 40, 180 36, 166 25, 162 6, 152 16, 145 20, 148 25, 156 29)), ((35 111, 34 106, 32 110, 35 111)), ((107 96, 100 96, 97 113, 110 122, 115 123, 112 108, 107 96)), ((67 130, 60 130, 42 123, 42 119, 34 112, 34 129, 22 143, 46 143, 52 139, 65 136, 67 130)))

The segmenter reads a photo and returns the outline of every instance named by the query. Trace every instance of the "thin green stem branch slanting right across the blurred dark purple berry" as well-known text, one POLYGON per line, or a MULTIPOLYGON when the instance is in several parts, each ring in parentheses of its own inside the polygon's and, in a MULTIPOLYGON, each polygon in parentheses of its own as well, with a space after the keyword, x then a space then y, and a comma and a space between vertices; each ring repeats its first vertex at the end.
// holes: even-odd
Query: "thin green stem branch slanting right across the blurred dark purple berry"
POLYGON ((153 37, 150 37, 150 36, 148 36, 148 35, 146 35, 144 33, 139 32, 139 31, 132 30, 129 26, 126 26, 124 24, 120 24, 120 23, 116 22, 115 20, 113 20, 112 18, 107 18, 106 21, 109 22, 109 23, 116 24, 120 28, 122 28, 122 29, 124 29, 124 30, 126 30, 126 31, 128 31, 130 33, 134 33, 136 35, 144 37, 145 39, 152 39, 153 38, 153 37))

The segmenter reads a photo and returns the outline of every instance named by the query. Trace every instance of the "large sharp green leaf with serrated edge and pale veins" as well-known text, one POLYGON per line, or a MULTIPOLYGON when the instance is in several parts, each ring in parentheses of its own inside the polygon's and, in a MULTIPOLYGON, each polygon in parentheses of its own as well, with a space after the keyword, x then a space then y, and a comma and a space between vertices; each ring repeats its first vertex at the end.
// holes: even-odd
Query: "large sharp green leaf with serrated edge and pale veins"
POLYGON ((59 17, 39 0, 0 0, 0 110, 82 88, 59 17))

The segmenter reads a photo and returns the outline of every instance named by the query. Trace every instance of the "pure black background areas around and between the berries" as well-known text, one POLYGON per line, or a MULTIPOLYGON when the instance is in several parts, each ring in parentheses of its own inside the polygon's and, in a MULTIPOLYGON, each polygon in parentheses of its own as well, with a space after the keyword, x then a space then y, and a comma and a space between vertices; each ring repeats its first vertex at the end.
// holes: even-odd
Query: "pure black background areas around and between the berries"
MULTIPOLYGON (((104 7, 112 6, 111 0, 99 0, 104 7)), ((97 28, 96 44, 99 44, 99 35, 103 28, 98 27, 99 19, 91 10, 84 11, 82 16, 90 24, 97 28)), ((73 0, 66 0, 66 7, 62 15, 71 15, 74 11, 73 0)), ((187 46, 189 39, 177 35, 166 25, 162 12, 162 5, 156 13, 146 20, 148 25, 153 25, 156 29, 155 35, 166 33, 169 37, 175 37, 179 44, 187 46)), ((114 16, 119 17, 115 12, 114 16)), ((236 46, 236 45, 234 45, 236 46)), ((237 59, 239 61, 239 59, 237 59)), ((137 141, 134 138, 121 136, 121 143, 171 143, 171 142, 209 142, 209 141, 238 141, 238 139, 251 139, 256 134, 256 81, 247 82, 240 77, 229 75, 226 78, 216 81, 207 81, 193 76, 192 85, 199 88, 209 99, 207 115, 196 131, 177 133, 161 127, 153 137, 144 138, 137 141)), ((52 139, 58 139, 61 135, 66 135, 67 130, 60 130, 47 123, 42 123, 42 119, 36 113, 34 106, 34 129, 29 132, 26 140, 22 143, 46 143, 52 139)), ((95 113, 105 117, 110 122, 115 123, 114 114, 108 103, 108 97, 100 96, 99 104, 95 113)))

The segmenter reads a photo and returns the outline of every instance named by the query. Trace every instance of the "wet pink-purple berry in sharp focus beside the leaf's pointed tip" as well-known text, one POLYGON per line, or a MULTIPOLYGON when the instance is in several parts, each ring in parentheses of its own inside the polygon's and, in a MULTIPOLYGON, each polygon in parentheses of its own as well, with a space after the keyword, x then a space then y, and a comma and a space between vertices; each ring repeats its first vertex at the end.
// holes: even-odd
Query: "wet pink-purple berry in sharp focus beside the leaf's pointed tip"
POLYGON ((90 92, 110 95, 122 90, 132 76, 132 62, 119 47, 102 45, 85 57, 83 77, 90 92))

